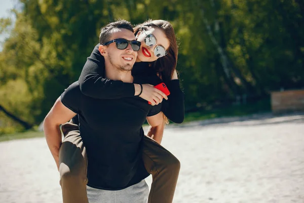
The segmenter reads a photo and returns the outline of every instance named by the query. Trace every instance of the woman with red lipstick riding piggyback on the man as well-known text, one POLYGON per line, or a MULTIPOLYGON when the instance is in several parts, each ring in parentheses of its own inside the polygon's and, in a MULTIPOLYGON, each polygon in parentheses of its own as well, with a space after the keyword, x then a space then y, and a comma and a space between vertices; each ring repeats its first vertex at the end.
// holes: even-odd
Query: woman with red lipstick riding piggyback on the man
MULTIPOLYGON (((172 25, 164 20, 149 20, 137 25, 134 32, 135 38, 141 42, 142 46, 138 51, 137 63, 133 67, 132 75, 144 77, 158 75, 171 92, 168 100, 164 100, 162 103, 162 112, 173 122, 181 123, 184 118, 183 93, 179 88, 175 71, 178 48, 172 25)), ((150 85, 140 86, 111 81, 104 79, 103 76, 104 59, 100 55, 97 45, 88 58, 79 79, 82 93, 101 99, 140 96, 150 101, 152 105, 162 102, 162 96, 160 96, 162 94, 150 85)), ((167 122, 165 116, 164 119, 167 122)), ((83 159, 75 163, 75 168, 70 168, 68 173, 66 171, 63 173, 64 170, 59 168, 63 200, 64 202, 88 202, 86 181, 82 181, 86 180, 86 149, 79 134, 77 118, 74 118, 73 122, 76 124, 64 124, 62 131, 66 141, 75 144, 82 150, 83 159), (71 188, 73 193, 81 194, 82 199, 73 199, 75 195, 71 193, 71 188)), ((150 128, 148 135, 159 135, 154 139, 161 143, 162 132, 163 128, 150 128)), ((179 161, 158 143, 148 137, 143 139, 144 166, 153 175, 148 202, 172 202, 180 165, 179 161)), ((61 159, 68 157, 67 151, 71 151, 71 147, 64 145, 63 141, 59 157, 61 159)))

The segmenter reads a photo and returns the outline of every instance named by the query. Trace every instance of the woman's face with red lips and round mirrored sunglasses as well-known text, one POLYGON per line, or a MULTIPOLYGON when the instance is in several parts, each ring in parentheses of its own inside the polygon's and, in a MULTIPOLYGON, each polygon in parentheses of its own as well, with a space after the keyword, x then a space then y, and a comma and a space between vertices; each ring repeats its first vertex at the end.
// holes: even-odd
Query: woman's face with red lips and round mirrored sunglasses
MULTIPOLYGON (((137 33, 136 37, 137 41, 141 42, 141 47, 137 52, 136 62, 144 61, 151 62, 158 59, 158 57, 154 54, 154 49, 156 46, 163 46, 166 50, 168 50, 170 46, 169 40, 166 38, 165 32, 161 28, 148 28, 144 31, 141 30, 137 33), (153 34, 156 38, 156 44, 153 46, 147 46, 144 42, 146 35, 153 34)), ((163 56, 165 57, 165 56, 163 56)))

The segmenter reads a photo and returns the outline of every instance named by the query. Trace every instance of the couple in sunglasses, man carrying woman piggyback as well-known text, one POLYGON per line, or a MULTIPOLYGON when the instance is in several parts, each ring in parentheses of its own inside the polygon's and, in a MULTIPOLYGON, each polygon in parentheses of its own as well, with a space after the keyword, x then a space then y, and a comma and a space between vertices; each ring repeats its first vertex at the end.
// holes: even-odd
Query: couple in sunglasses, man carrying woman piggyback
POLYGON ((149 20, 133 29, 120 20, 101 29, 100 44, 79 81, 62 93, 44 121, 63 202, 146 202, 147 196, 148 202, 172 202, 180 164, 160 143, 167 117, 180 123, 184 116, 176 62, 168 21, 149 20), (153 87, 161 82, 171 92, 168 98, 153 87), (157 142, 144 136, 145 119, 147 135, 157 142))

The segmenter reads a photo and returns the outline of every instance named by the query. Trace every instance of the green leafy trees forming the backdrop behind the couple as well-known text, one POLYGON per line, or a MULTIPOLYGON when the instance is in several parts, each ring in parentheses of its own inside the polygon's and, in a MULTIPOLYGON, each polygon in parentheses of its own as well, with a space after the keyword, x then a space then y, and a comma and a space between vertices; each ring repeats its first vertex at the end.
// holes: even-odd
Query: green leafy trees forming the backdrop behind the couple
MULTIPOLYGON (((39 124, 79 78, 99 29, 122 18, 169 20, 180 42, 177 70, 186 109, 236 95, 304 87, 304 6, 280 0, 20 0, 0 52, 1 104, 39 124)), ((0 114, 5 126, 16 126, 0 114)), ((0 124, 1 124, 0 123, 0 124)), ((1 126, 2 126, 1 125, 1 126)), ((17 127, 18 128, 18 127, 17 127)), ((7 128, 9 129, 9 128, 7 128)))

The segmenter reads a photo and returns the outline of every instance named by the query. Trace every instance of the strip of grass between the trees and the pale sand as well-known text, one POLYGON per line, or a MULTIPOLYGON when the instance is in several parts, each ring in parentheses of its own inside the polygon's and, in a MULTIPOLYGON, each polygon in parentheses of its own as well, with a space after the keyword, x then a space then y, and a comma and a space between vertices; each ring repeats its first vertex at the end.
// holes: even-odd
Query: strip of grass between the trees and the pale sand
MULTIPOLYGON (((254 113, 263 113, 270 111, 271 111, 270 100, 264 99, 254 104, 229 106, 226 108, 187 113, 185 114, 184 122, 206 120, 211 118, 219 118, 219 117, 227 117, 227 116, 245 116, 254 113)), ((17 140, 17 139, 26 139, 26 138, 37 138, 37 137, 44 137, 44 133, 30 130, 26 132, 18 132, 12 134, 0 134, 0 142, 17 140)))

